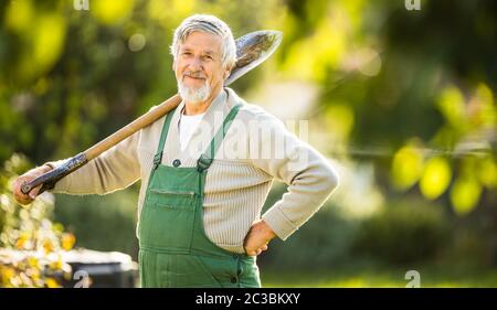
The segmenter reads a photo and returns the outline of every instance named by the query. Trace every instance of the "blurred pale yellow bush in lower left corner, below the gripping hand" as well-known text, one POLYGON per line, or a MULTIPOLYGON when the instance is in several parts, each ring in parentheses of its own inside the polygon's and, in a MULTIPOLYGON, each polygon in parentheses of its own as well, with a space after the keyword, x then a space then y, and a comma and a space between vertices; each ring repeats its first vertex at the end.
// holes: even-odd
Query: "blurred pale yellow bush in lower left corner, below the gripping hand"
POLYGON ((56 277, 71 277, 61 250, 70 250, 73 234, 53 223, 53 197, 44 193, 29 205, 20 205, 11 193, 25 158, 13 154, 0 171, 0 287, 57 287, 56 277))

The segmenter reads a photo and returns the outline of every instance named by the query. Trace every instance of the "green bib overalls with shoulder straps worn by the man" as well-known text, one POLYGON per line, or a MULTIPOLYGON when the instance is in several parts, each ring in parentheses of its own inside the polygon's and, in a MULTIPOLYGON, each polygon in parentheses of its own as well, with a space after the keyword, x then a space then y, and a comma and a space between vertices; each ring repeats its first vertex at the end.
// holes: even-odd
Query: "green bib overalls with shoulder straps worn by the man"
POLYGON ((179 160, 161 164, 175 111, 166 117, 138 227, 142 287, 261 287, 255 256, 212 243, 202 220, 205 175, 239 108, 231 109, 194 168, 179 167, 179 160))

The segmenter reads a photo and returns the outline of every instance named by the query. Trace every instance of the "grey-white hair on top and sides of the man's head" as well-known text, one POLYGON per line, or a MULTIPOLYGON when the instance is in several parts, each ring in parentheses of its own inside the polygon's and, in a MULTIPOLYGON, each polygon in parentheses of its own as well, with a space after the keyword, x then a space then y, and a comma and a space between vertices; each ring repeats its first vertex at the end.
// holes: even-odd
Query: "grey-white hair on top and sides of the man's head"
POLYGON ((179 44, 187 40, 188 35, 194 31, 201 31, 219 35, 222 40, 221 63, 225 68, 232 68, 236 62, 236 44, 230 26, 214 15, 195 14, 184 19, 175 30, 172 44, 170 46, 171 54, 176 61, 179 52, 179 44))

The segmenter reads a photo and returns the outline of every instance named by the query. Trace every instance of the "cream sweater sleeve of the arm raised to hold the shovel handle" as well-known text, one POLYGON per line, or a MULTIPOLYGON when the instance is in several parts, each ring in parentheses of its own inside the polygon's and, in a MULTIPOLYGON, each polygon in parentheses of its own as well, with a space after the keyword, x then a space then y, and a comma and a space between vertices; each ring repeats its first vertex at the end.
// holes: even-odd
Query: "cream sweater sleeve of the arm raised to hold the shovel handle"
MULTIPOLYGON (((78 170, 61 179, 52 190, 66 194, 106 194, 125 189, 140 178, 137 147, 140 131, 120 141, 78 170)), ((65 160, 47 162, 52 167, 65 160)))

